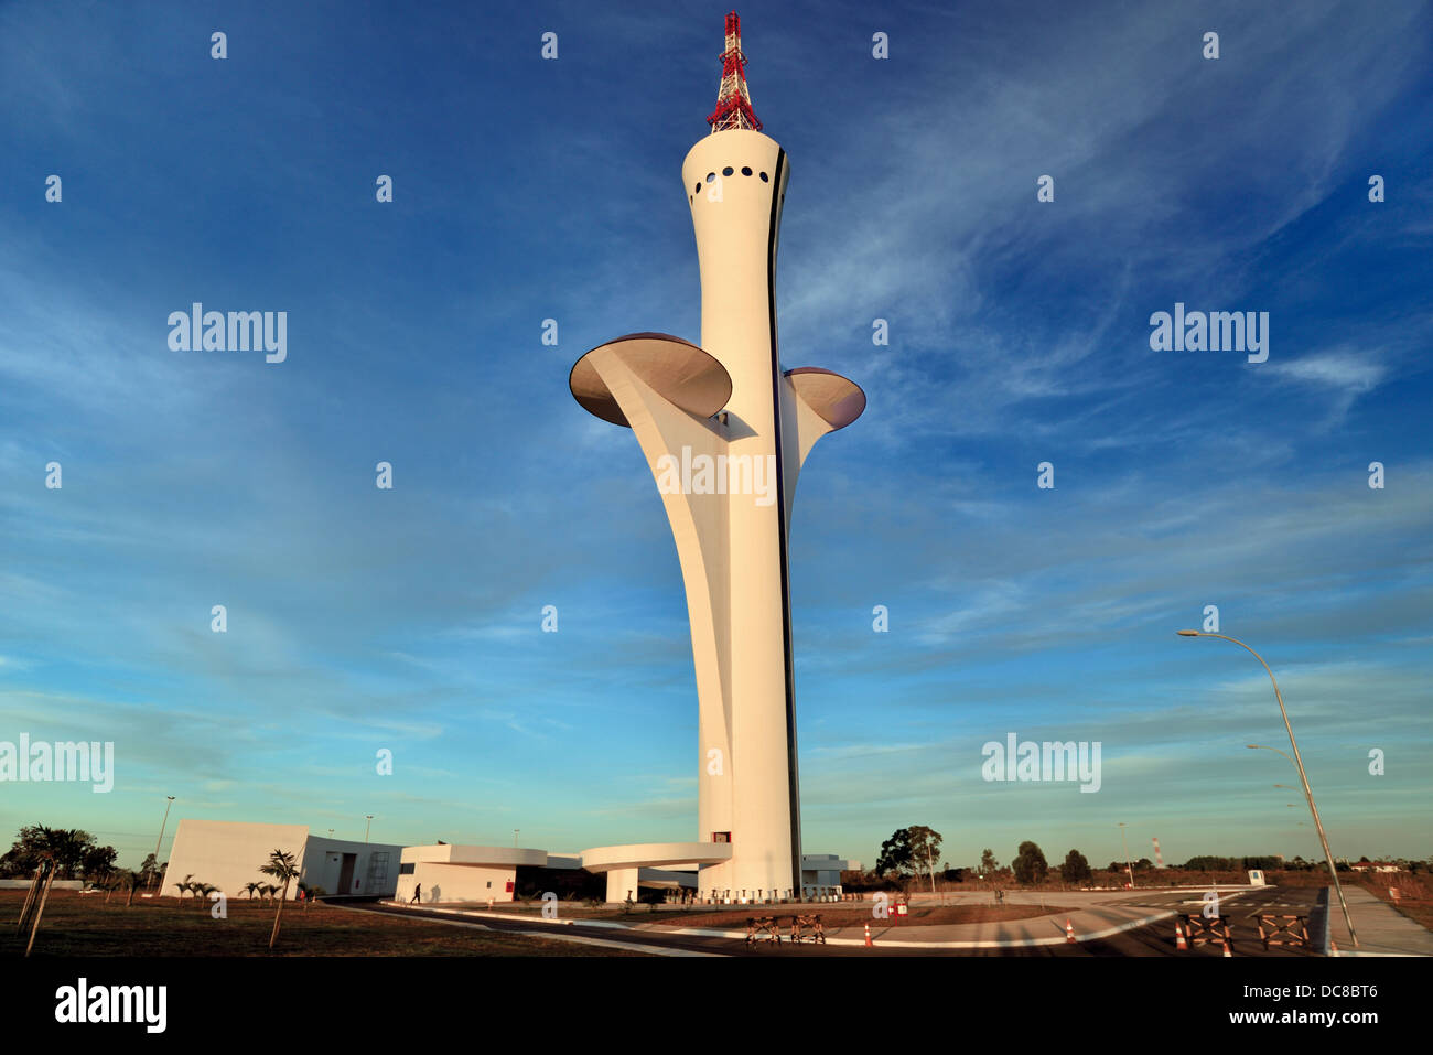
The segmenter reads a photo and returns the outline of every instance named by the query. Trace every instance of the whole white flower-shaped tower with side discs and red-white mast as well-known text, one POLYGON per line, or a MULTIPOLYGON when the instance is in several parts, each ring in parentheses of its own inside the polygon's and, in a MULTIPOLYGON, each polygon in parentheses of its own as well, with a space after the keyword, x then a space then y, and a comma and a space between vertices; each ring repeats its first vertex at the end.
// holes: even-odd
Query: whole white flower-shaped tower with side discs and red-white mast
MULTIPOLYGON (((801 808, 787 535, 813 444, 866 396, 830 370, 782 370, 777 242, 787 153, 751 108, 741 20, 711 133, 682 162, 702 284, 701 345, 639 333, 572 368, 586 410, 636 433, 682 566, 696 667, 699 896, 801 896, 801 808), (728 846, 711 846, 711 844, 728 846)), ((682 844, 686 846, 686 844, 682 844)))

